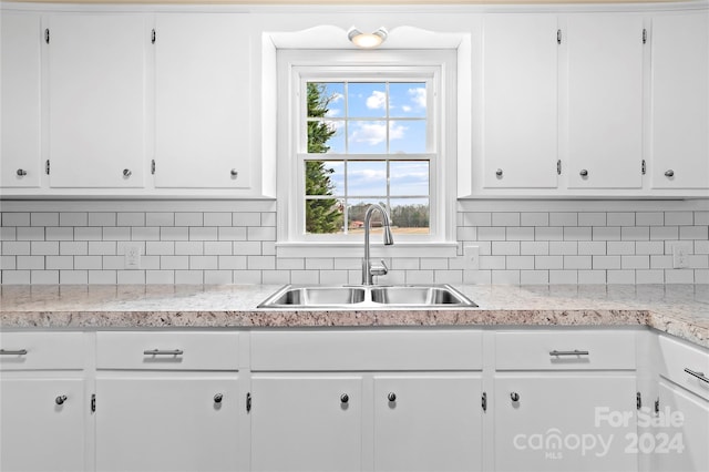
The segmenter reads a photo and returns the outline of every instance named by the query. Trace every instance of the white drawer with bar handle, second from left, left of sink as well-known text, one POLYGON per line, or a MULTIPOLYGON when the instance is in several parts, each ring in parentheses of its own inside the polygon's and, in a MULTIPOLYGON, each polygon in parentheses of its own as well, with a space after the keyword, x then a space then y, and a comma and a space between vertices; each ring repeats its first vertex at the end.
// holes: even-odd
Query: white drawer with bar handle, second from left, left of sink
POLYGON ((96 368, 238 370, 238 332, 96 334, 96 368))

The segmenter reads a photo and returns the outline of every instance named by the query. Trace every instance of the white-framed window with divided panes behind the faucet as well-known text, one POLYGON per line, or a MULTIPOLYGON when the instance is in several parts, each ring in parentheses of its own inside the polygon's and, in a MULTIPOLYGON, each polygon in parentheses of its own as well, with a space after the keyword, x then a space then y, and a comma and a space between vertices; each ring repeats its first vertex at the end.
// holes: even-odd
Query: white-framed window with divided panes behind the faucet
POLYGON ((371 203, 389 209, 397 245, 453 240, 443 78, 454 54, 278 52, 279 243, 361 244, 371 203))

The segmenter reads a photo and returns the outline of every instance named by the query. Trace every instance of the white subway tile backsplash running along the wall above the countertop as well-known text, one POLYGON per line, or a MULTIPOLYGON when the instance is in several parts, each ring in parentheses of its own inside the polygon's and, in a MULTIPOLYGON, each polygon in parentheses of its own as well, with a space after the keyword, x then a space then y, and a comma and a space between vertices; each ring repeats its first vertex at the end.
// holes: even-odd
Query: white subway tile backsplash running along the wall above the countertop
MULTIPOLYGON (((278 258, 276 213, 248 202, 238 208, 3 212, 0 283, 360 283, 360 257, 278 258), (141 268, 126 270, 124 253, 134 245, 143 254, 141 268)), ((554 285, 709 278, 707 211, 461 211, 456 217, 456 257, 389 258, 391 270, 381 280, 554 285), (689 245, 688 269, 672 268, 679 243, 689 245), (465 270, 465 245, 479 246, 480 270, 465 270)))

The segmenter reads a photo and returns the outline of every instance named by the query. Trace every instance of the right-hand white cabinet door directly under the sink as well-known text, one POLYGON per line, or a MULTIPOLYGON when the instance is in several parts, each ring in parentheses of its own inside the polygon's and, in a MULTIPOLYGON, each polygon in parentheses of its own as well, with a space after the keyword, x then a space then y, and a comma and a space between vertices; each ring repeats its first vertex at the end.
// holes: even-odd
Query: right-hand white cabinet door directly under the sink
POLYGON ((374 377, 374 470, 482 470, 481 380, 374 377))

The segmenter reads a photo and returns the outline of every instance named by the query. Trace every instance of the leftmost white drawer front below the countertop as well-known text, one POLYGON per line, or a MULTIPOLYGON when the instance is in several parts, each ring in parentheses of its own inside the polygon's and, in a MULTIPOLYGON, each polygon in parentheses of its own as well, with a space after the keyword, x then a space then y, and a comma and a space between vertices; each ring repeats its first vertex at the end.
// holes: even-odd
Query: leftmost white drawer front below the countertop
POLYGON ((0 332, 0 370, 83 369, 83 332, 0 332))

